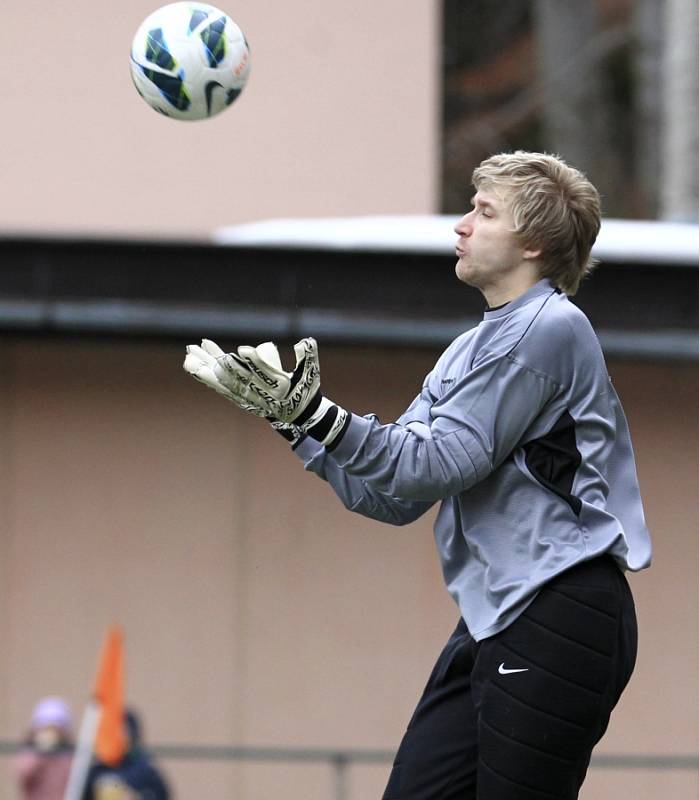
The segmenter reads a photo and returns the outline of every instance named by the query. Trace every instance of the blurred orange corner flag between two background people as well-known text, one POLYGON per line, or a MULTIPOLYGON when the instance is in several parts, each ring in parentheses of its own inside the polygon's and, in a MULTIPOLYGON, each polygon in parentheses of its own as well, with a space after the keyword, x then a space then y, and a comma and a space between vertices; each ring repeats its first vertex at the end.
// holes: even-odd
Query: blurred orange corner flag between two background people
POLYGON ((124 638, 116 626, 107 632, 93 694, 102 712, 95 755, 104 764, 115 766, 128 748, 124 725, 124 638))

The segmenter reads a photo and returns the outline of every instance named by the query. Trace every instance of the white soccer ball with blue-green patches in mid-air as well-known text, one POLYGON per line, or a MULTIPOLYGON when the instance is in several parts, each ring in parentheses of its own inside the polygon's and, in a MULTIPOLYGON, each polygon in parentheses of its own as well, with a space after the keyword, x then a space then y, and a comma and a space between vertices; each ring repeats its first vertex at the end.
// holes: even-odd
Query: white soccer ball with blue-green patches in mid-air
POLYGON ((250 73, 240 28, 207 3, 171 3, 141 23, 131 77, 151 108, 175 119, 206 119, 228 108, 250 73))

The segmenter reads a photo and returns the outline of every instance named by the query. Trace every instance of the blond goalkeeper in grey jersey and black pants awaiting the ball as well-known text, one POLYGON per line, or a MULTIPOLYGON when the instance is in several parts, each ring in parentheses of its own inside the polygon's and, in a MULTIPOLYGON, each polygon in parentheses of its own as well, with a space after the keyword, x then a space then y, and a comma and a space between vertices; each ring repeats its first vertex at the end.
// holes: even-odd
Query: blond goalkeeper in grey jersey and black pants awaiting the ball
POLYGON ((187 348, 185 369, 266 417, 352 511, 405 524, 438 502, 435 540, 460 610, 384 800, 578 797, 633 671, 624 576, 651 547, 626 419, 573 295, 600 227, 595 188, 517 152, 473 174, 456 275, 482 322, 438 359, 392 424, 323 396, 313 339, 187 348))

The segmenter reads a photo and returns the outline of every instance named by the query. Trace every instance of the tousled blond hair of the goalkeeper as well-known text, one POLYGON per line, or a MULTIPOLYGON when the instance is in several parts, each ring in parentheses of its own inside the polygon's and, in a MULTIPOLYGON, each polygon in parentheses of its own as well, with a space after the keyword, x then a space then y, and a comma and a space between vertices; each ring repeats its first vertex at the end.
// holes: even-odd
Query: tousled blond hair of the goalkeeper
POLYGON ((473 171, 473 185, 508 191, 515 233, 541 250, 541 277, 574 295, 596 262, 590 256, 600 229, 597 189, 577 169, 548 153, 500 153, 473 171))

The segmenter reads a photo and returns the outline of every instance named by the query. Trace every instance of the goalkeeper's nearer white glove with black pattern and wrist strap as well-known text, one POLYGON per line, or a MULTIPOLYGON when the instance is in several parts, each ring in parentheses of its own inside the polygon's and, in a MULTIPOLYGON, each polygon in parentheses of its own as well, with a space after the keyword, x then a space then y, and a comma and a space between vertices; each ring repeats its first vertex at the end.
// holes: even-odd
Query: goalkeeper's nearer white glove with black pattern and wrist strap
POLYGON ((272 342, 241 346, 237 354, 218 358, 214 375, 241 402, 257 407, 265 416, 297 425, 326 447, 337 446, 351 416, 320 391, 315 339, 301 339, 294 345, 294 353, 294 371, 285 372, 272 342))

